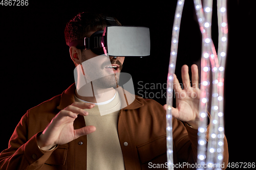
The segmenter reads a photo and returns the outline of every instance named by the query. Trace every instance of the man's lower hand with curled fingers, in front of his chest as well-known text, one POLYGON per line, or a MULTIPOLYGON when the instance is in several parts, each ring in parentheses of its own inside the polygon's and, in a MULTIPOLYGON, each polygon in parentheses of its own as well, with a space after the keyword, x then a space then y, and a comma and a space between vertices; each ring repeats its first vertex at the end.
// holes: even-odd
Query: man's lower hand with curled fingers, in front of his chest
POLYGON ((41 150, 50 150, 56 144, 66 144, 80 136, 90 134, 96 130, 94 126, 86 126, 74 129, 73 123, 77 115, 88 115, 83 109, 91 109, 95 105, 89 103, 74 102, 65 109, 61 110, 37 137, 37 144, 41 150))

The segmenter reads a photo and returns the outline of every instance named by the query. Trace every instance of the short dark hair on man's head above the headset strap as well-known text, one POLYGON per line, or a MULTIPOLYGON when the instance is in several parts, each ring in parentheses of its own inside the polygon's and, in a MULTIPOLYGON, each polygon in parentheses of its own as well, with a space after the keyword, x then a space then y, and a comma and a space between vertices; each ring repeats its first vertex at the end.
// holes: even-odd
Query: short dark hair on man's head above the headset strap
MULTIPOLYGON (((81 12, 71 19, 65 28, 66 44, 74 40, 83 39, 88 36, 88 33, 92 31, 103 30, 108 23, 103 14, 96 14, 91 12, 81 12)), ((121 23, 115 18, 119 26, 121 23)))

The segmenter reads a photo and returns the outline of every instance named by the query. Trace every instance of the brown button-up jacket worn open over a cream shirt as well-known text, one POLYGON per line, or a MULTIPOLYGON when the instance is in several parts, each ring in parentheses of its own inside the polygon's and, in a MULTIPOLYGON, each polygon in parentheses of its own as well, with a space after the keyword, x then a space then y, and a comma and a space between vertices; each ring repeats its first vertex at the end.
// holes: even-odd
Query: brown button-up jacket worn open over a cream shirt
MULTIPOLYGON (((87 136, 52 151, 42 151, 36 136, 45 130, 52 118, 74 102, 75 84, 62 94, 30 109, 17 125, 9 148, 0 155, 0 169, 68 169, 87 168, 87 136)), ((83 116, 78 115, 74 129, 84 127, 83 116)), ((154 100, 136 96, 135 101, 119 112, 118 134, 126 170, 154 169, 151 165, 166 162, 165 110, 154 100), (125 143, 124 145, 124 142, 125 143), (151 164, 148 164, 152 162, 151 164), (150 166, 149 166, 150 165, 150 166)), ((195 164, 197 160, 197 129, 176 118, 173 119, 174 163, 195 164)), ((224 140, 224 162, 228 163, 228 149, 224 140)), ((160 168, 157 168, 160 169, 160 168)), ((184 169, 184 168, 183 168, 184 169)), ((89 169, 90 170, 90 169, 89 169)), ((101 170, 101 169, 99 169, 101 170)))

